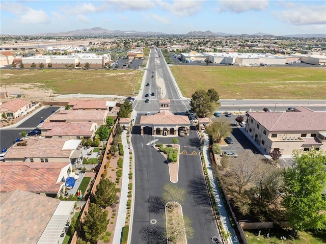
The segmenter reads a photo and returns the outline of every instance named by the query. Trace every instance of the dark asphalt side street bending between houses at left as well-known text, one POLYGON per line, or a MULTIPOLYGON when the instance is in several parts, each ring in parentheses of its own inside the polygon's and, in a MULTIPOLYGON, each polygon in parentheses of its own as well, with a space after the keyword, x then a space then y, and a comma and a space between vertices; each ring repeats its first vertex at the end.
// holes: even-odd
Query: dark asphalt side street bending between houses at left
POLYGON ((40 124, 40 120, 45 120, 48 118, 52 113, 52 110, 57 111, 60 107, 59 106, 49 106, 45 109, 40 110, 38 113, 29 116, 27 120, 22 122, 16 128, 3 128, 0 130, 1 141, 0 141, 0 148, 10 148, 13 145, 13 141, 16 138, 21 138, 21 131, 29 132, 30 130, 36 128, 40 124))

